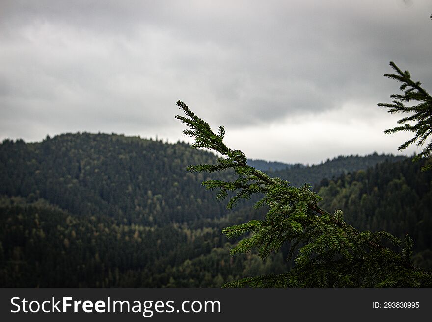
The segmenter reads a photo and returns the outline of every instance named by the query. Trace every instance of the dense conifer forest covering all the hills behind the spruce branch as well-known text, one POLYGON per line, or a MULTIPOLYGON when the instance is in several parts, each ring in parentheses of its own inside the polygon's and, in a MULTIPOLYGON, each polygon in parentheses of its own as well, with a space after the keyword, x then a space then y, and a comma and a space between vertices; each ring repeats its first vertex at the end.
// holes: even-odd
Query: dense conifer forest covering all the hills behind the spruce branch
MULTIPOLYGON (((264 210, 243 203, 227 211, 201 184, 230 173, 186 171, 215 162, 186 143, 115 134, 3 141, 0 286, 219 287, 283 272, 290 263, 282 253, 264 263, 254 253, 229 255, 236 240, 221 230, 264 210)), ((432 267, 432 174, 419 163, 374 153, 314 166, 250 164, 296 186, 310 183, 358 229, 409 233, 416 264, 432 267)))

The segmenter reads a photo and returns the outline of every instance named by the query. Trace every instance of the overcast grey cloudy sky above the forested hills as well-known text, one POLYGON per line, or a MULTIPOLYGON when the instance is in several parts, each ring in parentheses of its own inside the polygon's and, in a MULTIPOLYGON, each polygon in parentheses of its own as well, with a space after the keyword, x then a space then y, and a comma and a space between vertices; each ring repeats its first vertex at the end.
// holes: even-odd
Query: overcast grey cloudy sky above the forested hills
MULTIPOLYGON (((0 139, 186 140, 183 100, 250 158, 395 153, 394 61, 432 92, 430 0, 0 1, 0 139)), ((410 154, 415 149, 405 150, 410 154)))

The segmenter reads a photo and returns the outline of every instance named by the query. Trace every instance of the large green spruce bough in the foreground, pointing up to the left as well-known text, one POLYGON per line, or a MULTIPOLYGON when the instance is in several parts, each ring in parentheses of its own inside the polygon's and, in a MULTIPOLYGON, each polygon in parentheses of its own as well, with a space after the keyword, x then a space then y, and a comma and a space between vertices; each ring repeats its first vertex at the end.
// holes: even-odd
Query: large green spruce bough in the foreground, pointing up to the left
POLYGON ((341 210, 328 213, 319 206, 320 196, 308 184, 294 187, 280 178, 247 164, 244 153, 227 147, 225 128, 214 133, 210 125, 196 116, 182 101, 177 105, 186 116, 176 118, 194 138, 194 149, 210 149, 221 155, 216 164, 191 165, 191 172, 216 172, 231 169, 233 181, 207 180, 206 189, 217 190, 216 198, 229 198, 227 208, 239 200, 258 194, 255 207, 267 207, 263 219, 227 227, 228 237, 245 237, 231 249, 231 254, 258 251, 262 260, 288 243, 287 260, 295 265, 278 275, 252 276, 230 281, 225 287, 420 287, 432 286, 432 276, 412 263, 413 240, 402 241, 386 231, 358 231, 344 220, 341 210), (395 251, 390 243, 400 245, 395 251))

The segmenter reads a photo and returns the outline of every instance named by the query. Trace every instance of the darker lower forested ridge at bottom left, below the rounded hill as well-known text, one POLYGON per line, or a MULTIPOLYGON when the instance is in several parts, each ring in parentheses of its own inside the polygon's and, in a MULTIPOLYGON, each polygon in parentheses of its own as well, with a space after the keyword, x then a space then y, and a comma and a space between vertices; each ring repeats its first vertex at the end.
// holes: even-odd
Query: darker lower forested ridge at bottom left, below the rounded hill
MULTIPOLYGON (((242 213, 233 214, 244 218, 242 213)), ((230 260, 221 226, 119 224, 74 216, 44 200, 0 198, 2 287, 219 287, 250 273, 283 272, 281 258, 230 260)))

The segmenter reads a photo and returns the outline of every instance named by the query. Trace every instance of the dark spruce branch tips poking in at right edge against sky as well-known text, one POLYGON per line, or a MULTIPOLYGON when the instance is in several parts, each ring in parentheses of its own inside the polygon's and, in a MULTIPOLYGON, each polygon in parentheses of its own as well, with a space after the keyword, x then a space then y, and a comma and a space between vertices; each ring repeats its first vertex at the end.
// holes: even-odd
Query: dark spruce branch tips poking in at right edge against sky
MULTIPOLYGON (((401 82, 402 85, 399 89, 404 93, 392 94, 390 97, 393 99, 393 103, 379 103, 378 106, 388 108, 388 112, 392 114, 409 113, 410 115, 398 121, 401 126, 387 129, 384 133, 393 134, 399 131, 414 133, 412 139, 399 146, 398 150, 400 151, 408 148, 413 143, 416 143, 418 147, 423 146, 426 144, 427 138, 432 134, 432 97, 420 86, 420 82, 411 79, 408 71, 402 72, 394 62, 390 62, 390 66, 397 74, 385 74, 384 76, 401 82), (413 122, 416 124, 410 124, 413 122)), ((421 153, 414 156, 413 161, 431 157, 431 151, 432 140, 426 144, 421 153)), ((432 165, 422 167, 422 170, 429 169, 432 169, 432 165)))

